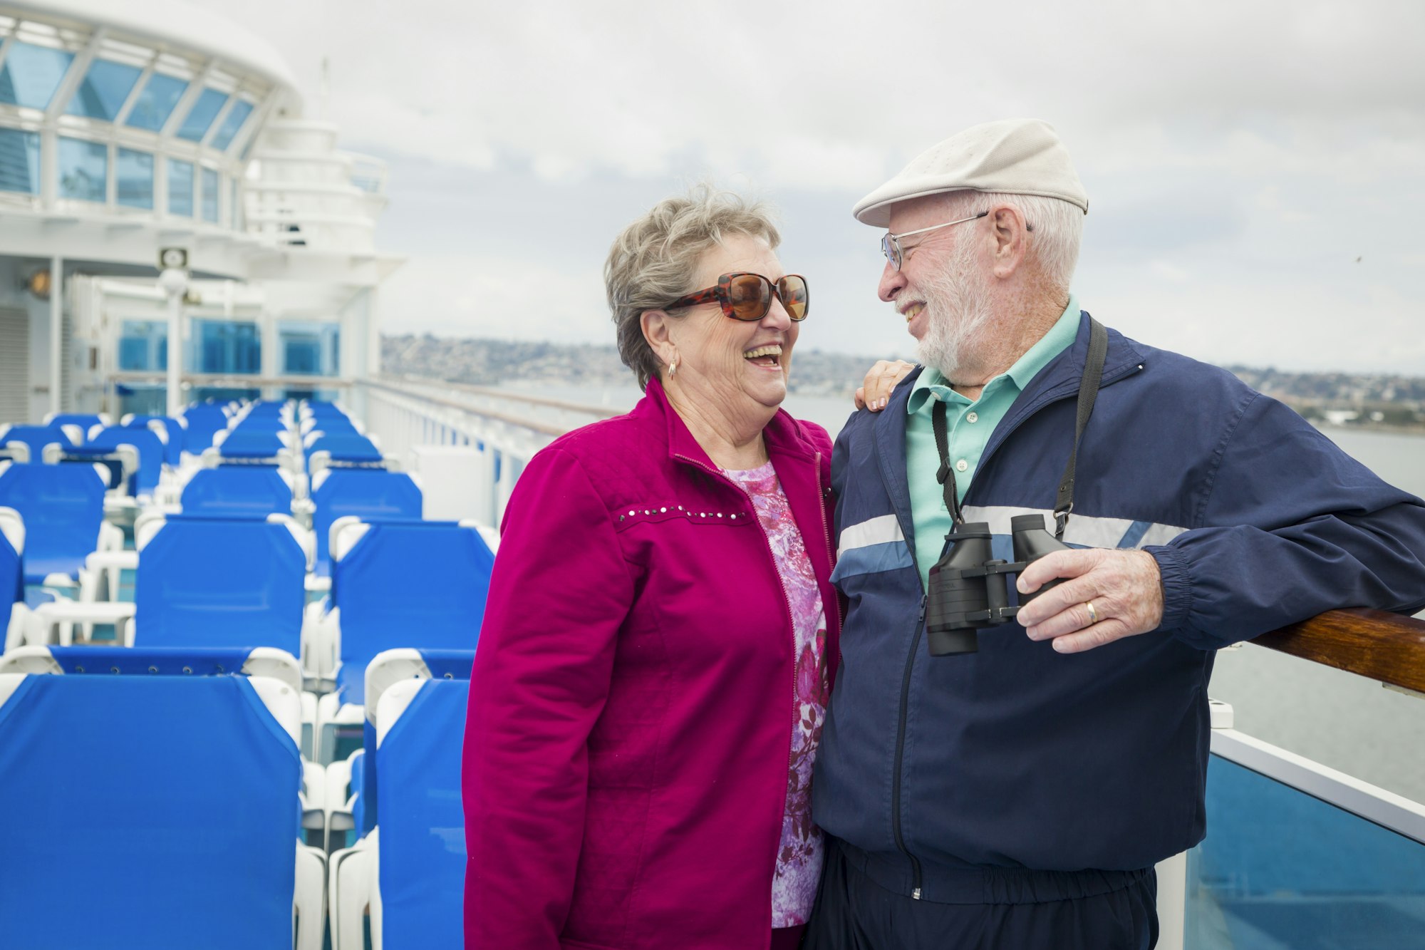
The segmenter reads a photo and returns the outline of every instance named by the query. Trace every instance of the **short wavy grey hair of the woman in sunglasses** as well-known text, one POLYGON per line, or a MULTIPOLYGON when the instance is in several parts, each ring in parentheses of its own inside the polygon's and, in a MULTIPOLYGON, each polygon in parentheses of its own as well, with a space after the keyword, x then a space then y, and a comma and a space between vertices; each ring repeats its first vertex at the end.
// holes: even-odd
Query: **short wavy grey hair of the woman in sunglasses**
POLYGON ((640 389, 663 368, 643 335, 643 314, 703 290, 693 287, 698 260, 731 234, 762 238, 772 250, 782 240, 770 205, 708 184, 664 198, 614 238, 604 261, 604 292, 618 357, 638 377, 640 389))

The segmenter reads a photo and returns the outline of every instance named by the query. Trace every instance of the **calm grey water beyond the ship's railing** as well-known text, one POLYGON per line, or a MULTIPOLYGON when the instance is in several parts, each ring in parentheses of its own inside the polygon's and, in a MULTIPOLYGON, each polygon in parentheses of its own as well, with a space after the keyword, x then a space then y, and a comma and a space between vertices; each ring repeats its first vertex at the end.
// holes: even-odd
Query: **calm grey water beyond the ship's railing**
MULTIPOLYGON (((628 409, 640 392, 616 388, 509 384, 514 391, 583 405, 628 409)), ((851 401, 792 394, 784 408, 835 438, 851 401)), ((1322 429, 1387 482, 1425 496, 1425 438, 1322 429)), ((1425 698, 1247 643, 1220 650, 1210 690, 1231 703, 1235 727, 1415 802, 1425 802, 1425 698)))

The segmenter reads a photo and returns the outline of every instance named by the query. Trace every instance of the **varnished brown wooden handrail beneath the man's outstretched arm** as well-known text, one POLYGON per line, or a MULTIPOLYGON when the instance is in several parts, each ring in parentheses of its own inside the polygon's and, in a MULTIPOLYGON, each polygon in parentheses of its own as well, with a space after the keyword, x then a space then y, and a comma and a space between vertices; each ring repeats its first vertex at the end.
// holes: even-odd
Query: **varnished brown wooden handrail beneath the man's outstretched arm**
POLYGON ((1365 608, 1328 611, 1253 643, 1425 693, 1425 620, 1365 608))

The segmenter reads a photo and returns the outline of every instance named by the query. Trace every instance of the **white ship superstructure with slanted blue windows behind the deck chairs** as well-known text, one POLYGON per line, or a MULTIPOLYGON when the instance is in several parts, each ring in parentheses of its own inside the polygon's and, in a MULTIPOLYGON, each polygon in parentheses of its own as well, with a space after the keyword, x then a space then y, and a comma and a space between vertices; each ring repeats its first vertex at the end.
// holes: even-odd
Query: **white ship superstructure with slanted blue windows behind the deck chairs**
POLYGON ((171 0, 4 4, 0 36, 0 418, 376 369, 386 170, 304 118, 271 46, 171 0), (165 248, 182 287, 155 280, 165 248))

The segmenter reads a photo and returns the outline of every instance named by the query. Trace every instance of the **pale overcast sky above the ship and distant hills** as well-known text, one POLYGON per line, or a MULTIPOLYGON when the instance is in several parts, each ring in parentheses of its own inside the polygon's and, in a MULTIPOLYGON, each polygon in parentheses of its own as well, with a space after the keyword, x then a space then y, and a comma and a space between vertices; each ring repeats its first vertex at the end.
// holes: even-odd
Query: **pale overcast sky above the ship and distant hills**
POLYGON ((968 126, 1037 117, 1089 193, 1073 288, 1102 322, 1218 364, 1425 375, 1425 3, 191 1, 389 163, 385 332, 613 342, 613 237, 711 181, 778 208, 802 348, 909 355, 852 204, 968 126))

